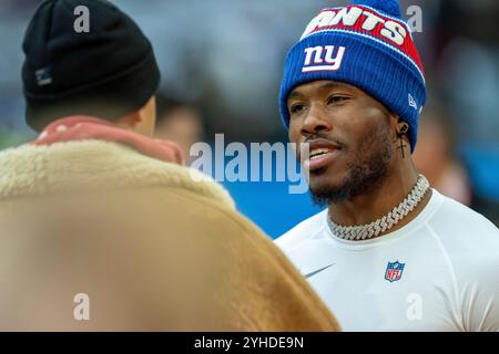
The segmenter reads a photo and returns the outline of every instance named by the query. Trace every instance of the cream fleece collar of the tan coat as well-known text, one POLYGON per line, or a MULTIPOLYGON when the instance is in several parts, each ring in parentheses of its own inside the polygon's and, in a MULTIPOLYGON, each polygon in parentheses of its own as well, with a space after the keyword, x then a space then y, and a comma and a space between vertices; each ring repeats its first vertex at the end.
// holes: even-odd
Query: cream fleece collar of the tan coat
POLYGON ((113 135, 108 133, 105 139, 96 138, 103 134, 102 127, 89 139, 86 133, 78 133, 83 131, 89 132, 74 126, 74 133, 68 135, 59 132, 59 135, 50 136, 48 133, 31 144, 0 152, 0 200, 95 188, 164 186, 234 209, 228 192, 210 176, 179 165, 174 149, 156 150, 156 143, 151 148, 150 144, 138 143, 135 137, 123 140, 126 135, 122 132, 118 134, 119 139, 111 139, 113 135), (82 134, 85 138, 62 139, 72 134, 79 137, 82 134))

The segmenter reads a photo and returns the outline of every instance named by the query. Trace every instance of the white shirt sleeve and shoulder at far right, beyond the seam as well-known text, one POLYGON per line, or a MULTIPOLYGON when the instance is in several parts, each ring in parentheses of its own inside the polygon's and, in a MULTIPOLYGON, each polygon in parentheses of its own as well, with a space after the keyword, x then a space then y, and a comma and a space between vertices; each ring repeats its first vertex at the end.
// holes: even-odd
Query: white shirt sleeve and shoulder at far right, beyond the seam
POLYGON ((498 331, 499 229, 482 215, 441 196, 427 221, 449 266, 456 306, 468 331, 498 331))

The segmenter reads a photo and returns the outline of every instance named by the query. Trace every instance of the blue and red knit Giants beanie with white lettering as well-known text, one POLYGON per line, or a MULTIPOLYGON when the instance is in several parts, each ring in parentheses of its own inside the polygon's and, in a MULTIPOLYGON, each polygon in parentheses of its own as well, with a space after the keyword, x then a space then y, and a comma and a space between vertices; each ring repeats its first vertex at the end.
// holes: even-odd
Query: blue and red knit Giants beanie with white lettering
POLYGON ((410 150, 426 104, 421 61, 397 0, 357 0, 324 9, 289 50, 281 85, 281 114, 289 127, 287 96, 301 84, 335 80, 355 85, 409 125, 410 150))

